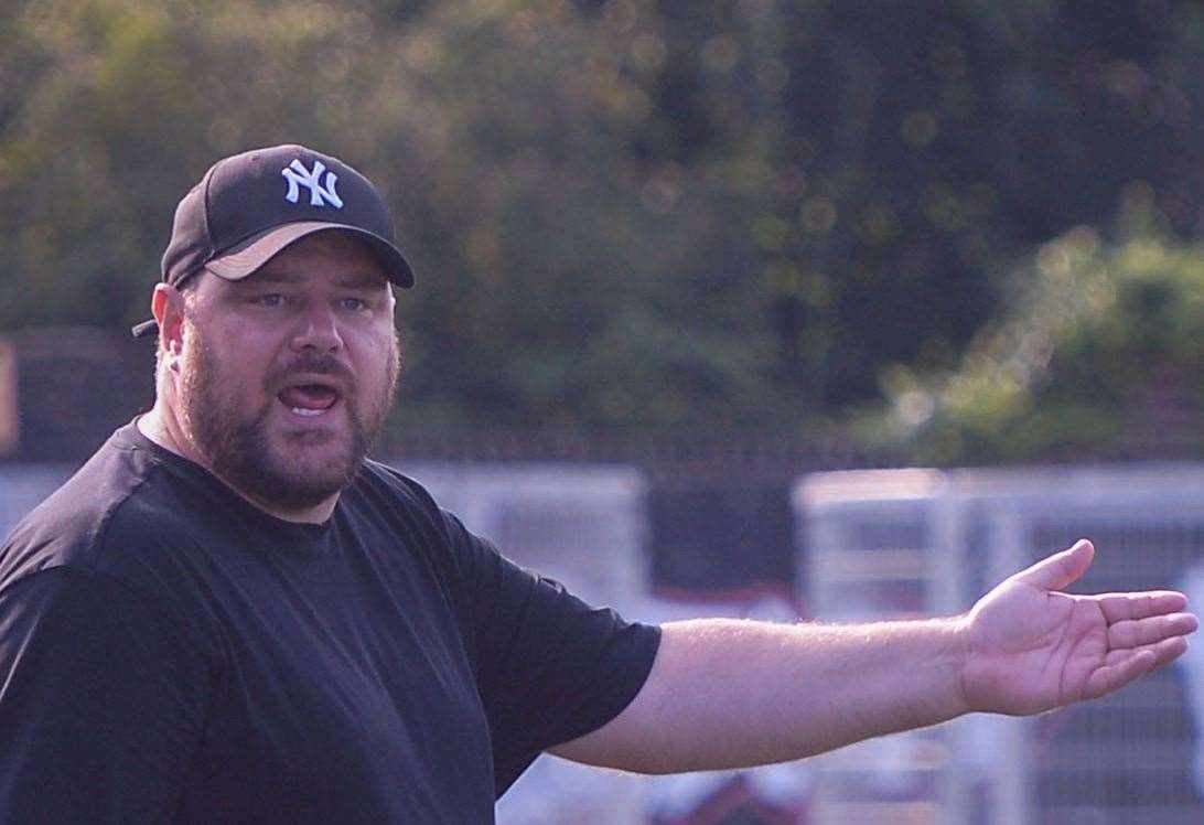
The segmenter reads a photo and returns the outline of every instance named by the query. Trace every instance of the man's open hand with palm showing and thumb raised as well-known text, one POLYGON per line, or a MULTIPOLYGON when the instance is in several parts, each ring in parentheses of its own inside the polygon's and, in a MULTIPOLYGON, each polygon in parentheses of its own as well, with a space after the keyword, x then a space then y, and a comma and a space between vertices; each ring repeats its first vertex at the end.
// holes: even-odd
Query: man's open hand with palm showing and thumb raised
POLYGON ((974 711, 1039 713, 1115 690, 1187 648, 1196 618, 1182 594, 1078 596, 1060 590, 1086 572, 1080 542, 1013 576, 969 614, 963 689, 974 711))

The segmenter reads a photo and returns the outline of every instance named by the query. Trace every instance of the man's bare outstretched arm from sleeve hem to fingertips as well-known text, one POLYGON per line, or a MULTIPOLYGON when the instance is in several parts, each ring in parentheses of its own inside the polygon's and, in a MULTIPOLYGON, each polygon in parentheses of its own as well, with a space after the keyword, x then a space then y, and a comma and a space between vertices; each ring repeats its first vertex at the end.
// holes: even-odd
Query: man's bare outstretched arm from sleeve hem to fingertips
POLYGON ((1182 654, 1197 619, 1179 593, 1062 593, 1093 554, 1080 541, 949 619, 666 624, 635 701, 553 753, 648 773, 746 767, 1102 696, 1182 654))

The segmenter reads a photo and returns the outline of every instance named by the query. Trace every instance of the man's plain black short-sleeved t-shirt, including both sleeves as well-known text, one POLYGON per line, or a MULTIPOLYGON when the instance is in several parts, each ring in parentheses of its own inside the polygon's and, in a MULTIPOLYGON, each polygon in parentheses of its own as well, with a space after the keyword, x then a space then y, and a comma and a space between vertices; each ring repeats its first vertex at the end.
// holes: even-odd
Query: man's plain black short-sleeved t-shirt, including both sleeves
POLYGON ((490 823, 657 642, 389 467, 294 524, 130 424, 0 548, 0 821, 490 823))

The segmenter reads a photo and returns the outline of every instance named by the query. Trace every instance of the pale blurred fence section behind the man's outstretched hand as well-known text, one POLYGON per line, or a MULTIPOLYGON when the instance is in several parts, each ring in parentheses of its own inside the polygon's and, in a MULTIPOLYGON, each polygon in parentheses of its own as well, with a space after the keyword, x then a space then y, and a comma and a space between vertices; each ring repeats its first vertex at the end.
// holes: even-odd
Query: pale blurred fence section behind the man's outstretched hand
MULTIPOLYGON (((795 507, 819 619, 960 612, 1080 536, 1098 554, 1075 590, 1204 590, 1199 467, 824 473, 796 487, 795 507)), ((1190 653, 1097 702, 1033 719, 974 715, 813 760, 814 819, 1204 821, 1192 767, 1200 668, 1190 653)))

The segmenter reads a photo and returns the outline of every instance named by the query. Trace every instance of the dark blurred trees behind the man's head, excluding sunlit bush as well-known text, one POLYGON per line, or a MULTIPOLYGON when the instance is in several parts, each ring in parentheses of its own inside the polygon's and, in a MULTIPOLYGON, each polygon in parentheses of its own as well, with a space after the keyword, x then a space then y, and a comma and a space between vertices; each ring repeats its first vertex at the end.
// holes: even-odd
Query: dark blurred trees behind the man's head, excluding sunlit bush
POLYGON ((839 419, 898 365, 957 364, 1010 263, 1108 223, 1134 181, 1194 231, 1202 20, 1046 0, 7 4, 0 330, 140 320, 184 190, 295 141, 382 185, 418 270, 399 425, 839 419))

